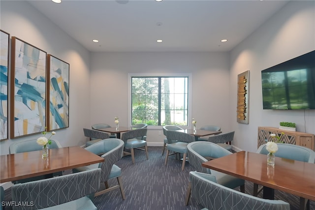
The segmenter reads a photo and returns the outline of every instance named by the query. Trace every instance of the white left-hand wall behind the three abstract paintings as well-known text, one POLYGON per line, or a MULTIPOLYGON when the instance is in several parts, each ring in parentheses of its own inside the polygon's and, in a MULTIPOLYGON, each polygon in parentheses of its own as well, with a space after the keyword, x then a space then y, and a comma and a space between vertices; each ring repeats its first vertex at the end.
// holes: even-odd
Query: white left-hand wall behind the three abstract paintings
MULTIPOLYGON (((1 1, 1 30, 16 36, 70 64, 69 128, 57 130, 53 139, 62 146, 81 145, 83 127, 90 126, 90 53, 27 1, 1 1)), ((9 90, 10 91, 10 90, 9 90)), ((0 142, 0 154, 8 154, 12 142, 37 139, 32 135, 0 142)))

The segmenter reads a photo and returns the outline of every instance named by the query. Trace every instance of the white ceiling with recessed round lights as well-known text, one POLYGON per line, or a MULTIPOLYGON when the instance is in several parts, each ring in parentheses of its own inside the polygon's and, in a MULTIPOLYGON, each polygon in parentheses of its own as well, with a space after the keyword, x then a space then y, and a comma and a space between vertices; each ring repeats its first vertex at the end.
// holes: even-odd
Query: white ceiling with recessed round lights
POLYGON ((29 2, 91 52, 230 51, 287 3, 286 0, 29 2), (222 43, 223 38, 228 41, 222 43), (158 43, 157 39, 163 42, 158 43))

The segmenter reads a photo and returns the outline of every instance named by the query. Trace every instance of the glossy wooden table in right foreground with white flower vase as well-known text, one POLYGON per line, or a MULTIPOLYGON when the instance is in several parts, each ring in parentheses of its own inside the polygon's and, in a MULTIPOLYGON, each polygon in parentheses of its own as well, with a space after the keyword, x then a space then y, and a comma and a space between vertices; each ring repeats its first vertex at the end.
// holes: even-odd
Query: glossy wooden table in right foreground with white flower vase
POLYGON ((314 163, 275 157, 275 166, 268 166, 267 155, 240 151, 202 166, 263 185, 265 199, 274 199, 276 189, 299 196, 301 210, 310 209, 309 200, 315 201, 314 163))

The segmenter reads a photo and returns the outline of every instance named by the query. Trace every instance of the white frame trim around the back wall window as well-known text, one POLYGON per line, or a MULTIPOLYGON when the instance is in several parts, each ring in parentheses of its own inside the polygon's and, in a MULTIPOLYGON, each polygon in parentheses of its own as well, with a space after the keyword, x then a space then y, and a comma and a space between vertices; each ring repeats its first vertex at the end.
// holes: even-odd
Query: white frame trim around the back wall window
MULTIPOLYGON (((192 110, 192 74, 191 73, 128 73, 128 126, 131 126, 131 77, 188 77, 188 119, 191 118, 192 110)), ((180 126, 181 128, 187 129, 191 127, 191 120, 188 120, 187 126, 180 126)), ((161 125, 149 125, 149 129, 161 129, 161 125)))

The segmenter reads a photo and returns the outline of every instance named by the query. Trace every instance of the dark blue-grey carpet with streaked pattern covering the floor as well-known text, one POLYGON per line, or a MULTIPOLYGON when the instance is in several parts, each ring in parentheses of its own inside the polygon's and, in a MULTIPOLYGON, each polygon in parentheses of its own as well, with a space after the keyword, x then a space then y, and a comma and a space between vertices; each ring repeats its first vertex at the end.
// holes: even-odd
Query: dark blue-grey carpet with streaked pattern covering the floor
MULTIPOLYGON (((126 200, 122 199, 120 190, 95 197, 98 210, 200 210, 203 207, 190 198, 185 206, 189 171, 194 171, 189 163, 181 170, 182 161, 170 156, 164 166, 165 154, 161 156, 162 147, 149 147, 149 160, 144 151, 135 151, 135 164, 131 156, 123 157, 116 165, 122 168, 126 200)), ((109 184, 116 185, 116 179, 109 184)), ((103 187, 103 186, 102 186, 103 187)), ((252 194, 252 182, 246 181, 246 193, 252 194)), ((239 188, 236 188, 239 190, 239 188)), ((262 194, 260 194, 261 196, 262 194)), ((275 199, 290 204, 291 210, 299 209, 299 197, 281 191, 275 191, 275 199)), ((10 189, 5 190, 5 201, 11 200, 10 189)), ((315 201, 310 202, 310 209, 315 210, 315 201)), ((9 210, 6 208, 5 210, 9 210)))

